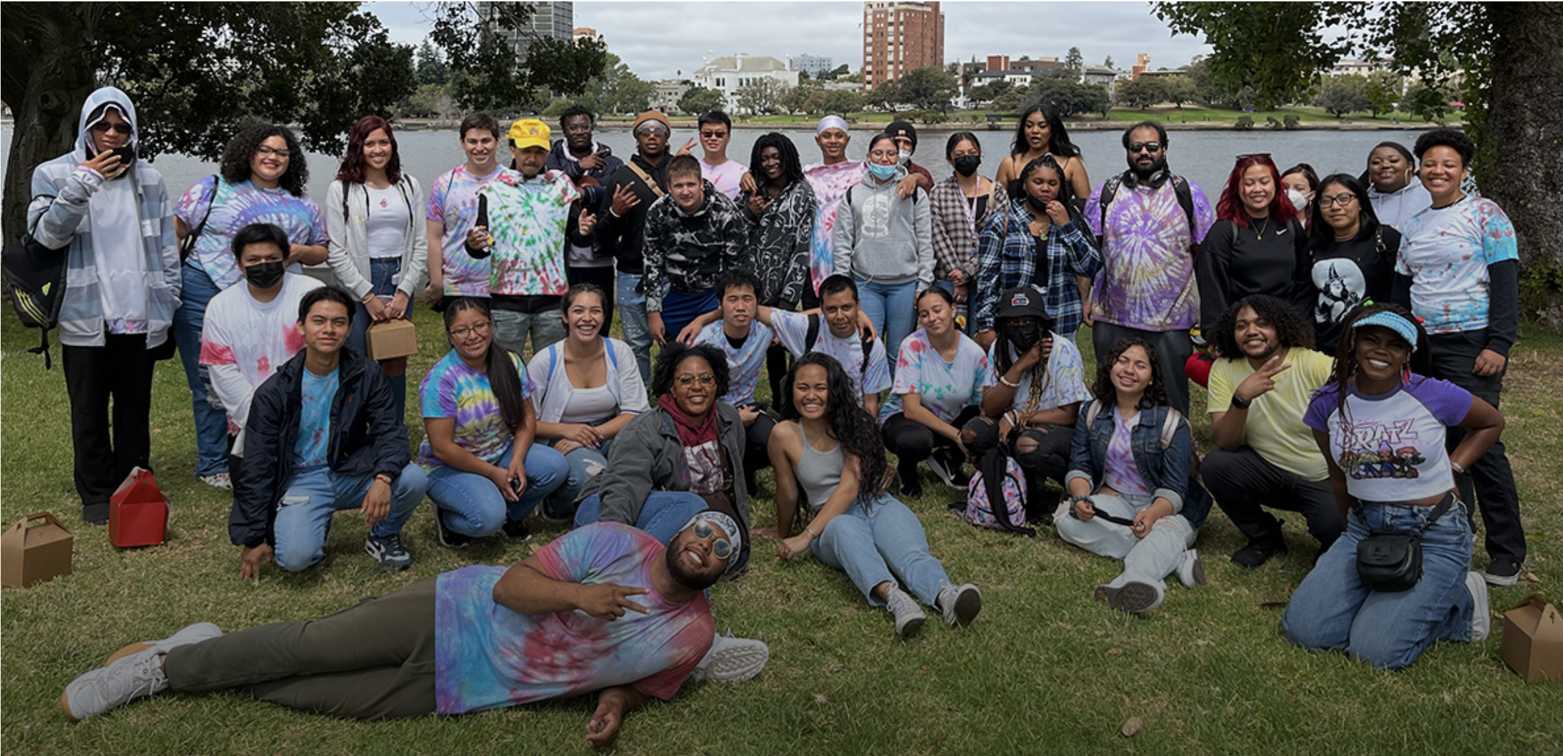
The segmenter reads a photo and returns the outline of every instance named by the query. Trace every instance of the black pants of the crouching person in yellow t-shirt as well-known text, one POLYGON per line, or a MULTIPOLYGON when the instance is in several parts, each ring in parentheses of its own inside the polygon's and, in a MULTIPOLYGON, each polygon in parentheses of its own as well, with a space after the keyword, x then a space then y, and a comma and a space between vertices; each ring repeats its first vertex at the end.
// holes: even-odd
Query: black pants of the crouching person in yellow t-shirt
POLYGON ((1249 445, 1236 451, 1213 450, 1199 472, 1221 511, 1249 540, 1280 537, 1280 520, 1266 512, 1266 506, 1300 514, 1308 533, 1319 540, 1319 551, 1341 537, 1341 509, 1329 478, 1304 480, 1269 464, 1249 445))

